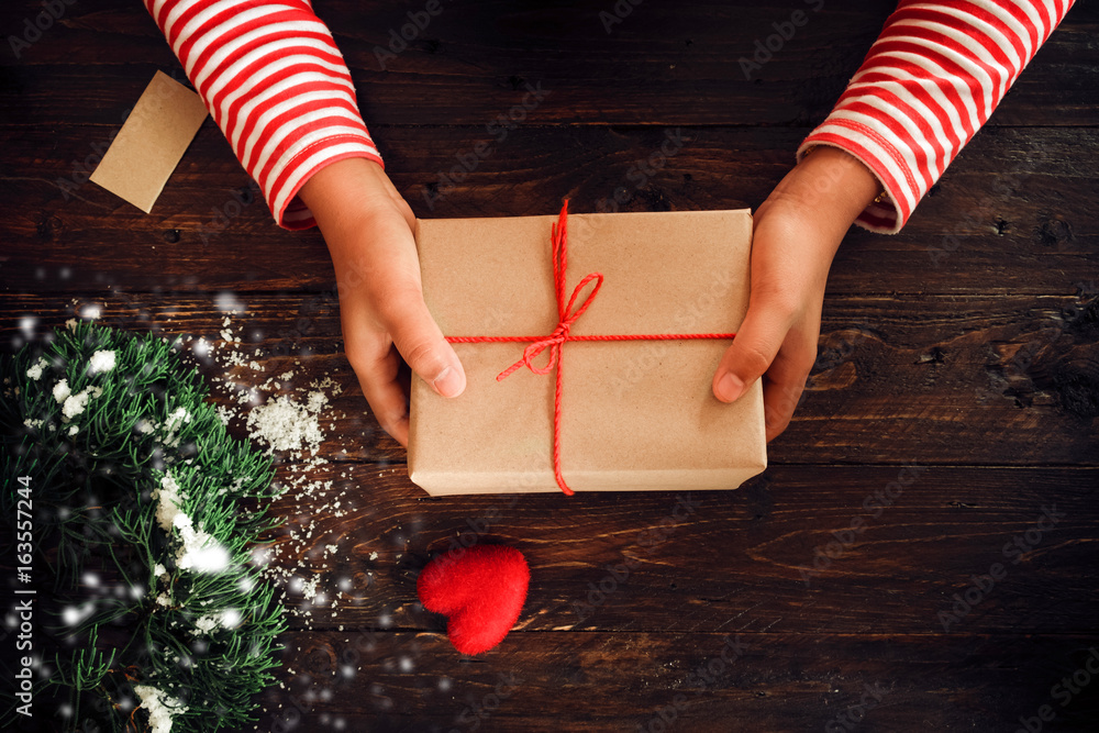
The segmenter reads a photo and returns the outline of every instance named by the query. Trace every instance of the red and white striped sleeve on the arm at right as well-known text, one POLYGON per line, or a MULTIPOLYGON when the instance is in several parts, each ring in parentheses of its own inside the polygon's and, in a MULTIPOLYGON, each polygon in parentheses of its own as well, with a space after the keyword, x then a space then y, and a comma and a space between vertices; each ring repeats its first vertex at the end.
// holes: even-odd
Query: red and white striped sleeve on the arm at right
POLYGON ((902 0, 835 109, 798 147, 833 145, 884 195, 855 223, 895 234, 1074 0, 902 0))

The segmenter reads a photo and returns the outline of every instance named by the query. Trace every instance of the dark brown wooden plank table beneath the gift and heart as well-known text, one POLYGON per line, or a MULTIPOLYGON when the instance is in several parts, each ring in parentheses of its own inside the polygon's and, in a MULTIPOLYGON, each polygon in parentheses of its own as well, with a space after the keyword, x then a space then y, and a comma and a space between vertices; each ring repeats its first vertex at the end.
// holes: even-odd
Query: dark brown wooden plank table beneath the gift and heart
MULTIPOLYGON (((736 59, 806 3, 647 0, 608 33, 611 0, 445 2, 385 70, 376 47, 423 3, 315 5, 392 180, 426 218, 552 213, 566 196, 595 211, 619 187, 630 211, 754 208, 892 3, 825 4, 751 81, 736 59), (447 189, 440 171, 528 84, 546 99, 447 189), (668 131, 682 149, 637 186, 631 167, 668 131)), ((5 2, 0 30, 20 34, 40 10, 5 2)), ((249 179, 211 120, 152 214, 84 182, 155 70, 182 79, 137 0, 76 0, 19 58, 4 44, 4 347, 22 316, 41 335, 87 304, 108 323, 223 345, 230 291, 259 379, 297 368, 297 384, 329 374, 344 387, 322 446, 332 463, 308 476, 334 482, 284 497, 275 538, 277 562, 330 597, 352 585, 311 617, 285 589, 282 687, 263 696, 260 731, 1097 730, 1097 37, 1099 13, 1078 4, 904 231, 850 233, 819 363, 770 467, 695 495, 697 512, 655 547, 640 533, 671 514, 674 492, 512 501, 413 486, 342 355, 321 236, 277 229, 262 201, 231 203, 248 200, 249 179), (864 508, 882 491, 888 508, 864 508), (333 497, 349 511, 337 517, 333 497), (419 607, 414 571, 486 517, 481 540, 522 549, 532 585, 518 629, 462 658, 419 607), (845 535, 856 518, 865 530, 845 535), (1026 552, 1006 559, 1017 536, 1026 552), (607 581, 628 560, 629 577, 607 581), (975 590, 995 563, 1006 575, 975 590), (601 582, 613 590, 581 619, 601 582), (944 630, 942 613, 959 610, 944 630), (729 664, 726 636, 741 647, 729 664)), ((295 470, 284 462, 280 478, 295 470)))

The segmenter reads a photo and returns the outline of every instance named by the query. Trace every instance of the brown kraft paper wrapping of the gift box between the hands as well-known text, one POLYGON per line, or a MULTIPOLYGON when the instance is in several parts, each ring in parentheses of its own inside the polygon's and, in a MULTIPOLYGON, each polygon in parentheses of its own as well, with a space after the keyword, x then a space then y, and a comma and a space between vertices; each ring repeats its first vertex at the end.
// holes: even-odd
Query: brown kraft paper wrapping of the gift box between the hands
MULTIPOLYGON (((448 336, 543 336, 557 325, 556 215, 418 220, 423 293, 448 336)), ((732 333, 748 304, 747 210, 569 214, 566 299, 606 279, 580 334, 732 333)), ((757 380, 732 404, 710 385, 729 340, 567 342, 562 473, 574 491, 732 489, 767 466, 757 380)), ((454 344, 466 389, 413 376, 409 475, 433 496, 560 491, 553 371, 496 376, 525 343, 454 344)), ((534 360, 546 364, 548 349, 534 360)))

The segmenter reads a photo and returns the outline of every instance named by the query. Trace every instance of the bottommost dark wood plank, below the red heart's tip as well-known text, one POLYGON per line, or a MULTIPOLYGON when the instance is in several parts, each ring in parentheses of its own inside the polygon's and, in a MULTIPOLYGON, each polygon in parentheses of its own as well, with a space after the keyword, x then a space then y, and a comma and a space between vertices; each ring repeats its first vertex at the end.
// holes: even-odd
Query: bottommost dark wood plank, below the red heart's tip
POLYGON ((292 730, 373 732, 733 731, 747 724, 753 731, 984 733, 1013 731, 1020 717, 1050 704, 1056 719, 1043 731, 1081 731, 1099 710, 1094 681, 1069 693, 1067 706, 1064 695, 1051 696, 1084 667, 1094 636, 973 636, 944 644, 921 635, 748 631, 740 634, 743 653, 726 652, 733 662, 724 664, 724 633, 512 633, 475 660, 436 634, 291 634, 285 658, 293 674, 285 673, 286 689, 263 698, 268 712, 258 730, 281 733, 295 722, 292 730), (710 664, 714 673, 700 676, 699 667, 710 664), (864 698, 867 687, 880 700, 864 698), (863 702, 874 704, 857 710, 863 702), (670 719, 666 726, 662 710, 670 719), (845 713, 854 718, 841 719, 845 713))

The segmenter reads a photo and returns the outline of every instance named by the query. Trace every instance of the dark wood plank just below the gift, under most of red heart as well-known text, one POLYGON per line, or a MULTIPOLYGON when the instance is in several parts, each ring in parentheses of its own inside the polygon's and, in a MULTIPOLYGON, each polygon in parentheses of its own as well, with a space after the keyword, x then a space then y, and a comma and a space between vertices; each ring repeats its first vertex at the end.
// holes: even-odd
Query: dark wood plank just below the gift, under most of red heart
POLYGON ((403 466, 278 480, 299 475, 264 554, 297 630, 442 631, 420 568, 501 543, 531 567, 523 632, 1095 633, 1095 468, 773 466, 735 491, 573 498, 429 498, 403 466))

